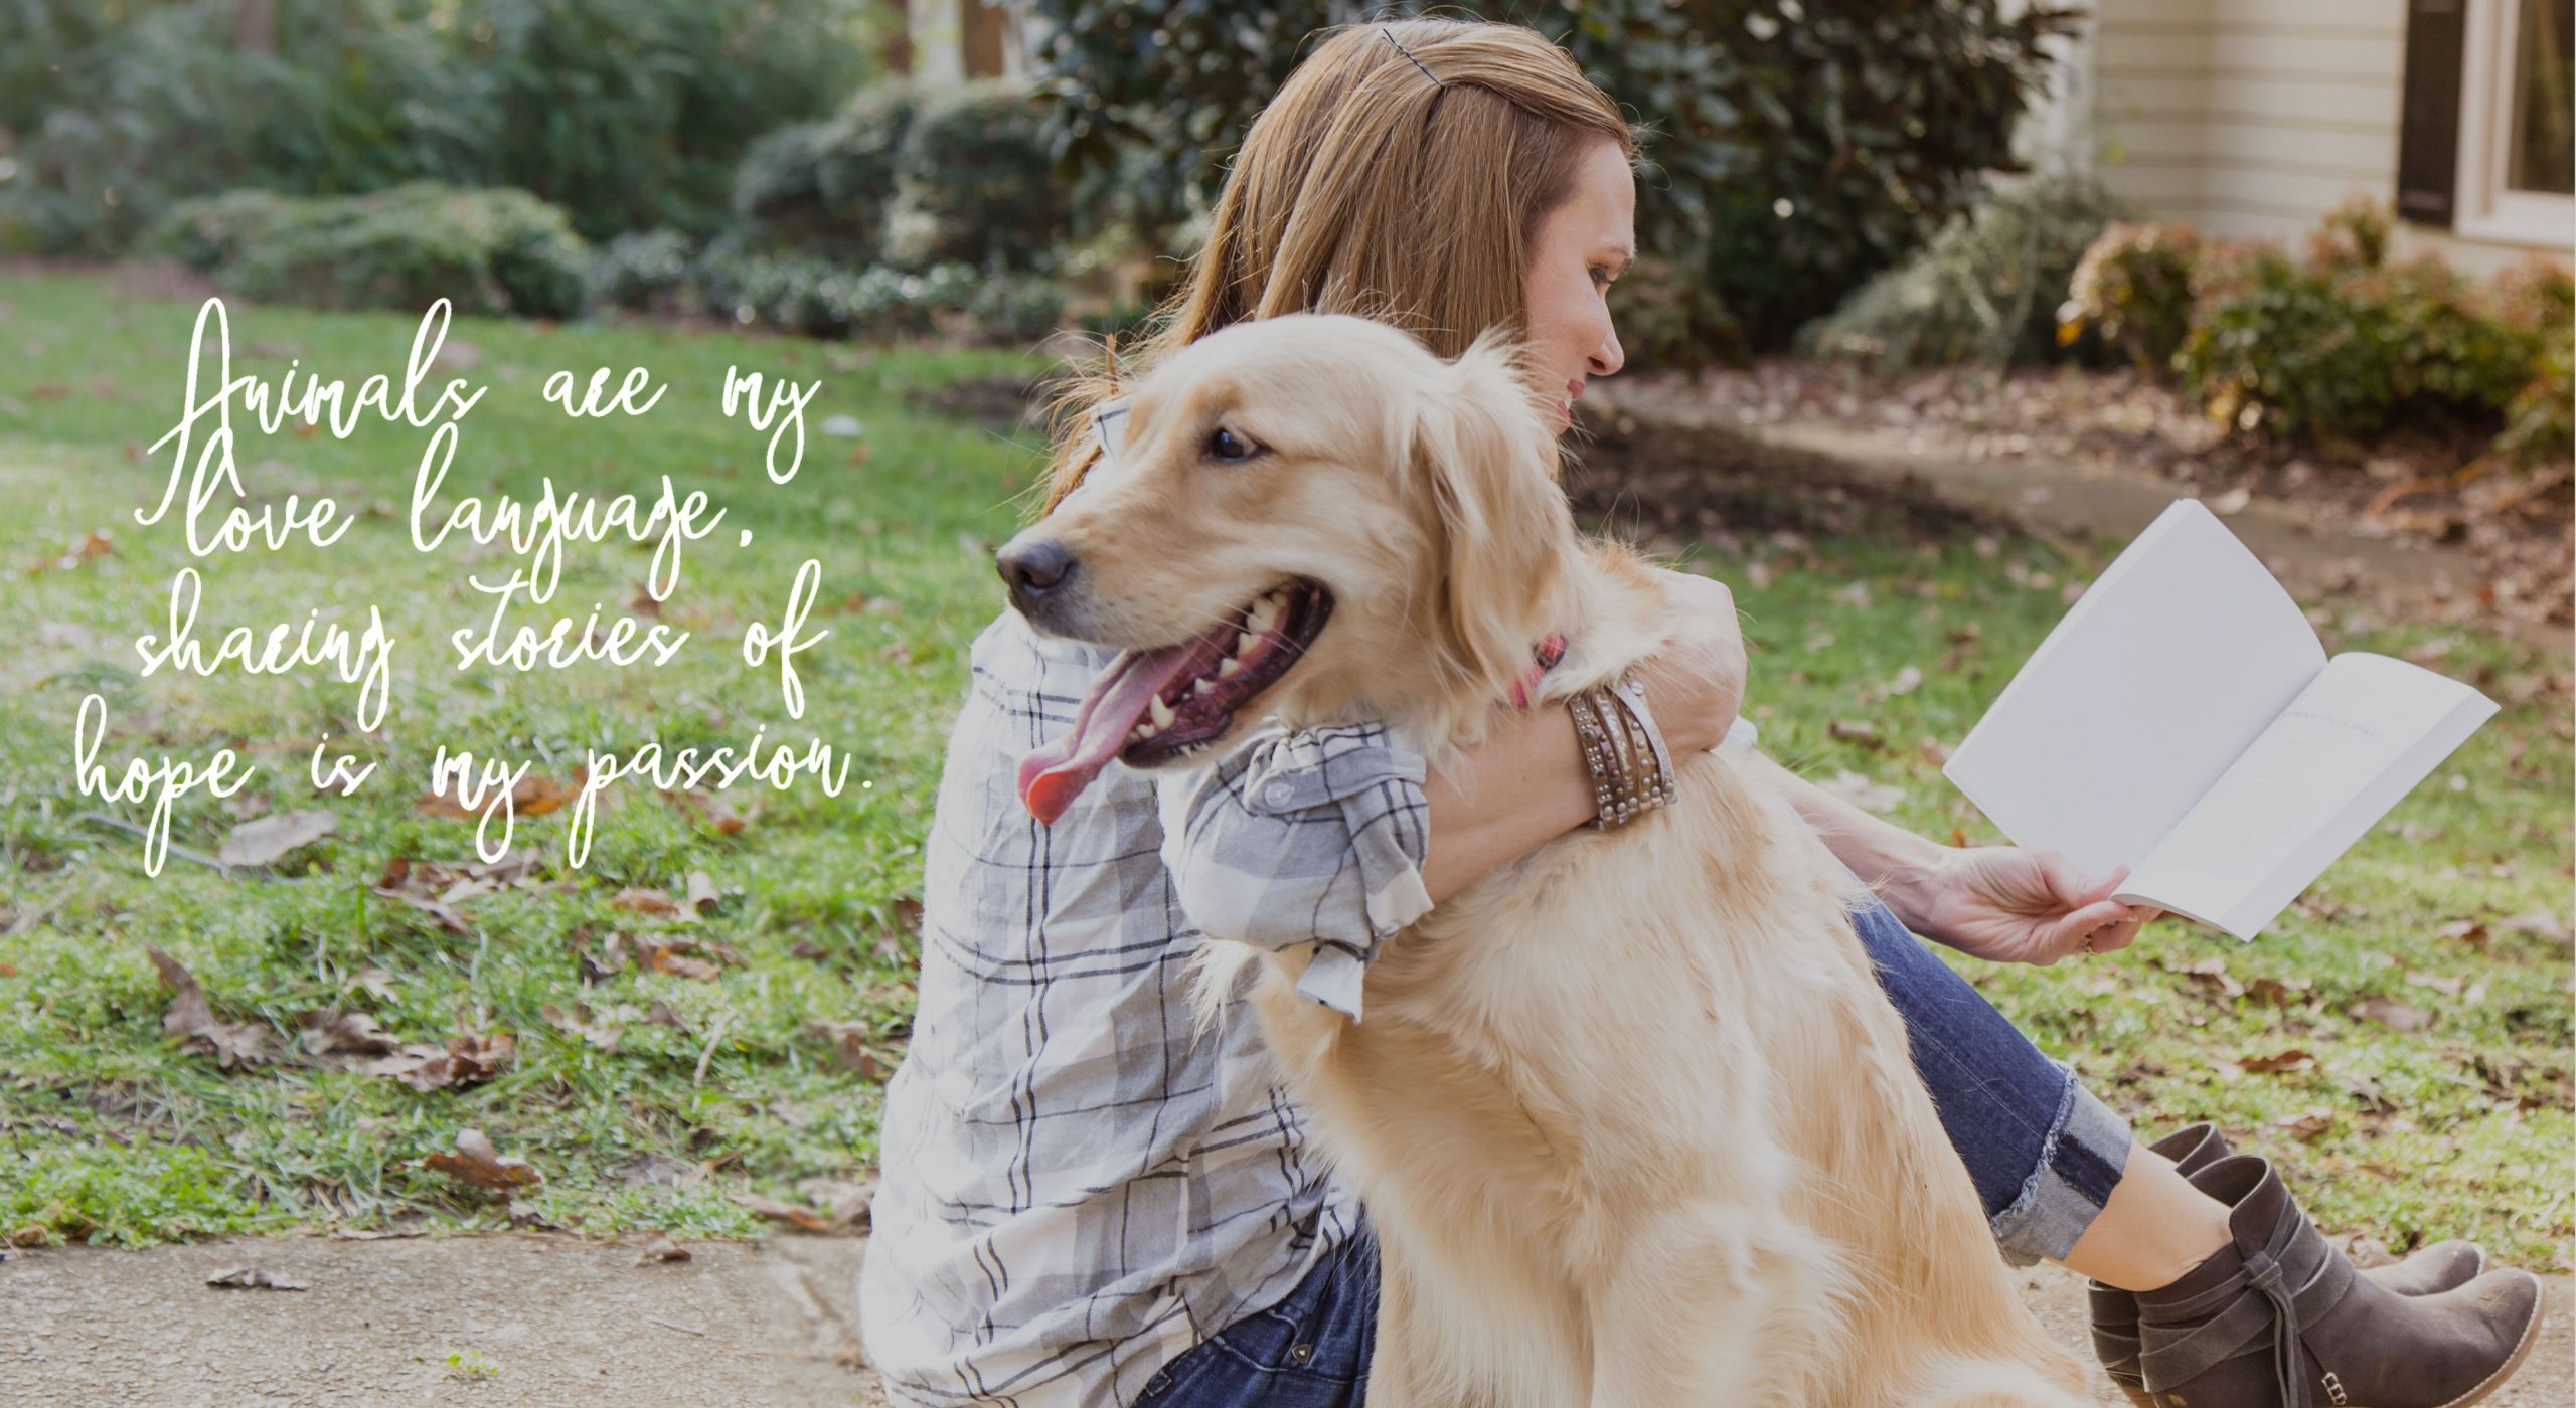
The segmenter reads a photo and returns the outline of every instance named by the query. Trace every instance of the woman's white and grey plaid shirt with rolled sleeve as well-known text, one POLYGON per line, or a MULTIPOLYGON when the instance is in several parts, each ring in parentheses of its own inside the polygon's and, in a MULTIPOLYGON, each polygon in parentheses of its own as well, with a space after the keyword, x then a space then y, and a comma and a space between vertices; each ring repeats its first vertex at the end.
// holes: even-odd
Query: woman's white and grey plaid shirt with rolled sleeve
POLYGON ((1203 772, 1110 767, 1041 826, 1015 767, 1110 654, 1005 613, 971 662, 863 1331, 904 1403, 1126 1403, 1355 1225, 1257 1024, 1193 1035, 1188 958, 1200 927, 1316 942, 1303 991, 1358 1017, 1363 965, 1430 909, 1422 759, 1378 726, 1273 728, 1203 772))

